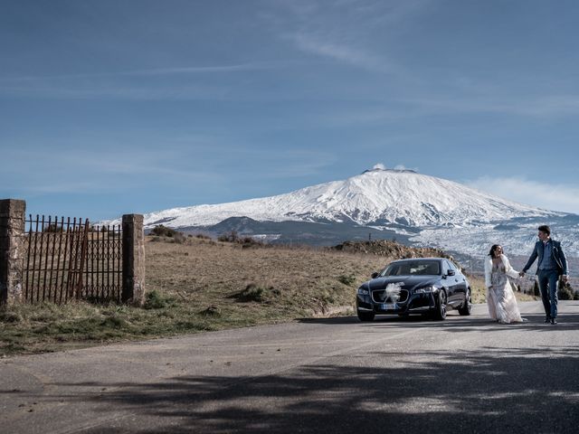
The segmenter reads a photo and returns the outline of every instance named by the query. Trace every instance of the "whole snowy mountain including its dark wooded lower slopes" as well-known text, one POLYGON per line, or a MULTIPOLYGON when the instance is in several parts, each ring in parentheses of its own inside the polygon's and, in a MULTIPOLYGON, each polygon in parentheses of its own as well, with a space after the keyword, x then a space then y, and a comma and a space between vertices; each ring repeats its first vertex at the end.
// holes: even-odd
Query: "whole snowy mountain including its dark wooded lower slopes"
POLYGON ((536 241, 537 225, 544 223, 552 226, 554 238, 565 241, 567 251, 579 256, 579 216, 575 214, 514 203, 411 170, 385 168, 277 196, 145 215, 147 228, 164 224, 213 233, 234 229, 286 242, 304 241, 300 234, 306 233, 305 242, 312 243, 318 233, 322 244, 348 236, 396 237, 477 257, 495 242, 506 251, 527 255, 536 241))

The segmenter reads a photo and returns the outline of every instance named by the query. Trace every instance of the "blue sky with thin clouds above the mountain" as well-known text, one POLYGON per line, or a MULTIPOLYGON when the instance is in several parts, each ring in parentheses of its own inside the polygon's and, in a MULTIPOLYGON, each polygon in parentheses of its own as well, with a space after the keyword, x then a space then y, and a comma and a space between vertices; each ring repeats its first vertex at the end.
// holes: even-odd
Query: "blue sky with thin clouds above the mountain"
POLYGON ((2 0, 0 198, 89 217, 377 163, 579 212, 579 3, 2 0))

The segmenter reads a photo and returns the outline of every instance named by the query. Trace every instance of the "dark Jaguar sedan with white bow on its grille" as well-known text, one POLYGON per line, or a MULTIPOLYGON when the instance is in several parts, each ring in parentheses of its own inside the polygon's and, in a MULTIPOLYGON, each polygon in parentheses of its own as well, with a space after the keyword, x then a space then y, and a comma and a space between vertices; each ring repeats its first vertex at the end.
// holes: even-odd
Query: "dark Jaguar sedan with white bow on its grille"
POLYGON ((395 260, 358 288, 356 308, 360 321, 383 314, 444 319, 447 309, 470 315, 470 284, 450 259, 395 260))

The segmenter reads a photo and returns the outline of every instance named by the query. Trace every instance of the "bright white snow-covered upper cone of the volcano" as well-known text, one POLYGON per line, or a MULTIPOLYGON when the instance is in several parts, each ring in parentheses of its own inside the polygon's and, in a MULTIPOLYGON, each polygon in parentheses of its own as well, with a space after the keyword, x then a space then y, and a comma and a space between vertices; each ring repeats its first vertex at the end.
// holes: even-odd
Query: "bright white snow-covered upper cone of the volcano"
POLYGON ((512 217, 562 215, 481 193, 462 184, 409 170, 372 169, 277 196, 151 212, 145 224, 208 226, 230 217, 256 221, 353 222, 430 227, 512 217))

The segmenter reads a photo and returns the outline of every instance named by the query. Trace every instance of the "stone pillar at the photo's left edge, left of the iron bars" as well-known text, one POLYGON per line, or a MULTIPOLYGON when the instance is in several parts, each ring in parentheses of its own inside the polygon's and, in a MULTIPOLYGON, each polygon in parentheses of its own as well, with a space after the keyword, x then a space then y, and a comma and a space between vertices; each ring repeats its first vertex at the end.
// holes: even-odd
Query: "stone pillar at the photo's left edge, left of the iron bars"
POLYGON ((26 203, 0 200, 0 305, 22 301, 26 203))

